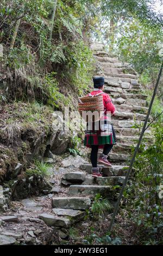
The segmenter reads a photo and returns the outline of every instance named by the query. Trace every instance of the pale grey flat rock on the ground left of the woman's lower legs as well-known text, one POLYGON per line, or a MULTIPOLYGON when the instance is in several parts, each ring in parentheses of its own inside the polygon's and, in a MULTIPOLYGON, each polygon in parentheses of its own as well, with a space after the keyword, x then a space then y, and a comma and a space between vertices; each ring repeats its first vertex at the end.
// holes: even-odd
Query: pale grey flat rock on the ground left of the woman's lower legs
POLYGON ((86 161, 81 156, 68 156, 62 161, 64 167, 79 167, 80 164, 86 163, 86 161))

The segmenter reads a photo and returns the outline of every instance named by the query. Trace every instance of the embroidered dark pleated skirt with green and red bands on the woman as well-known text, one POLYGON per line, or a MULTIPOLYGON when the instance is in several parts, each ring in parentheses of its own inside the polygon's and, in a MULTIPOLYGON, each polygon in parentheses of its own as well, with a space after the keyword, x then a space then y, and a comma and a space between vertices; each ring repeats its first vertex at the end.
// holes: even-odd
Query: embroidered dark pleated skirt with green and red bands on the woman
POLYGON ((105 144, 116 144, 116 136, 112 124, 105 120, 103 124, 100 122, 87 123, 84 145, 91 148, 91 145, 99 145, 104 148, 105 144))

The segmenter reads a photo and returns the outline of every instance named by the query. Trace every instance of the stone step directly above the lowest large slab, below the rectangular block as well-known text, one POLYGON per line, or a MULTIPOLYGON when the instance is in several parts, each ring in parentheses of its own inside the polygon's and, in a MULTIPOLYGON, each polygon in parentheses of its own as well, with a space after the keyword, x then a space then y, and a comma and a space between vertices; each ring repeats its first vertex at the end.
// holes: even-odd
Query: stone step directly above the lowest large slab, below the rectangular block
POLYGON ((82 221, 86 214, 85 211, 62 208, 53 208, 52 211, 57 216, 68 218, 71 221, 71 224, 82 221))

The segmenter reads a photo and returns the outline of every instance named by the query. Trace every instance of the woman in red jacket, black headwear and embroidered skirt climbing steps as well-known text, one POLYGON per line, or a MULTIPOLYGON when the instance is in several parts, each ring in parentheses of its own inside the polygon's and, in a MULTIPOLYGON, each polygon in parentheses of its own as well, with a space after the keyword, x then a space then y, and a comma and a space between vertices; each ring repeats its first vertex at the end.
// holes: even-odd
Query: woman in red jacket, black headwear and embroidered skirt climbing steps
MULTIPOLYGON (((98 149, 103 148, 103 153, 99 156, 98 163, 102 163, 105 166, 111 167, 111 163, 108 161, 108 154, 112 149, 113 145, 116 143, 115 131, 112 127, 112 124, 109 121, 108 115, 106 112, 111 112, 111 115, 115 112, 115 106, 113 105, 110 96, 106 93, 103 93, 104 90, 104 77, 95 77, 93 78, 94 90, 91 92, 91 95, 100 94, 103 96, 104 103, 104 115, 101 118, 103 119, 103 124, 97 121, 92 123, 91 130, 89 130, 89 123, 87 123, 84 145, 91 148, 91 163, 92 163, 92 176, 100 177, 102 176, 97 167, 97 154, 98 149), (98 127, 98 129, 97 129, 98 127)), ((89 94, 87 94, 89 96, 89 94)))

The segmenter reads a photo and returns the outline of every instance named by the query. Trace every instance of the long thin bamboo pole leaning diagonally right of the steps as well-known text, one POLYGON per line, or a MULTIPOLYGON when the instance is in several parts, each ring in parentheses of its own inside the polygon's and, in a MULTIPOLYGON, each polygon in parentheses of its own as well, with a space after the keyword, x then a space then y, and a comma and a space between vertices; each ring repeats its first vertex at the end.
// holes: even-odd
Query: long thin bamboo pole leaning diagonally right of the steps
POLYGON ((123 185, 122 185, 122 188, 121 188, 121 191, 120 191, 120 195, 119 195, 119 197, 118 197, 118 200, 117 200, 117 203, 116 203, 116 206, 115 206, 115 209, 114 209, 114 212, 113 212, 111 221, 110 221, 109 231, 112 230, 112 227, 113 227, 113 225, 114 225, 115 216, 116 216, 117 211, 118 211, 118 208, 119 208, 119 206, 120 206, 120 202, 121 202, 121 199, 122 199, 122 196, 123 196, 124 188, 126 187, 126 184, 127 184, 128 178, 129 178, 129 175, 130 175, 131 170, 132 170, 132 168, 133 168, 133 164, 134 164, 134 161, 135 161, 135 157, 136 157, 137 151, 139 150, 139 147, 140 147, 140 144, 141 144, 141 141, 142 141, 143 134, 144 134, 144 132, 145 132, 145 130, 146 130, 146 126, 147 126, 147 123, 148 123, 149 114, 151 113, 151 109, 152 109, 152 105, 153 105, 154 98, 155 98, 155 95, 156 95, 156 91, 157 91, 158 86, 159 86, 159 81, 160 81, 162 69, 163 69, 163 62, 162 62, 162 64, 161 64, 161 68, 160 68, 160 72, 159 72, 159 75, 158 75, 158 79, 157 79, 156 84, 155 84, 153 96, 152 96, 152 99, 151 99, 151 102, 150 102, 150 105, 149 105, 149 108, 148 108, 148 113, 147 113, 147 116, 146 116, 146 119, 145 119, 145 123, 143 124, 139 141, 137 142, 137 145, 136 145, 136 148, 135 148, 135 151, 134 151, 134 155, 133 155, 133 157, 132 157, 132 159, 131 159, 129 169, 128 169, 128 172, 127 172, 127 174, 126 174, 126 178, 124 179, 124 182, 123 182, 123 185))

